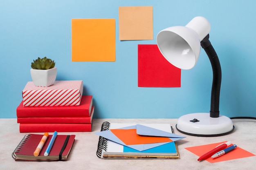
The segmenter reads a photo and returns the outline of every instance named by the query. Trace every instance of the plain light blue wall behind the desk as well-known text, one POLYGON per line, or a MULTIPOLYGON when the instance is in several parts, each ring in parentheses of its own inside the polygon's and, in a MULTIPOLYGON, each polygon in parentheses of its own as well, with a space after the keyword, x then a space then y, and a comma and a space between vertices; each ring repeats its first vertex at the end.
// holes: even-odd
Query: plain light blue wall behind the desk
MULTIPOLYGON (((209 112, 212 70, 201 50, 197 65, 182 70, 181 88, 137 86, 137 44, 156 44, 162 29, 195 16, 211 24, 210 41, 222 66, 220 114, 256 116, 256 1, 1 0, 0 117, 15 118, 36 57, 51 57, 57 80, 83 80, 95 118, 177 118, 209 112), (153 6, 154 40, 119 41, 118 7, 153 6), (71 19, 115 18, 116 62, 72 62, 71 19)), ((168 77, 167 77, 168 78, 168 77)))

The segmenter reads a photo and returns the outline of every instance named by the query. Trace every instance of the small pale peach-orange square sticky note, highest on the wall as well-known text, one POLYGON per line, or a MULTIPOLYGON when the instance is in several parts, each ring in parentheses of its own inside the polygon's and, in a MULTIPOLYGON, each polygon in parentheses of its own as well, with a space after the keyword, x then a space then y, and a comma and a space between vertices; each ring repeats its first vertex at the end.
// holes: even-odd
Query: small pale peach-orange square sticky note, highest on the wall
POLYGON ((119 7, 119 40, 153 40, 153 7, 119 7))

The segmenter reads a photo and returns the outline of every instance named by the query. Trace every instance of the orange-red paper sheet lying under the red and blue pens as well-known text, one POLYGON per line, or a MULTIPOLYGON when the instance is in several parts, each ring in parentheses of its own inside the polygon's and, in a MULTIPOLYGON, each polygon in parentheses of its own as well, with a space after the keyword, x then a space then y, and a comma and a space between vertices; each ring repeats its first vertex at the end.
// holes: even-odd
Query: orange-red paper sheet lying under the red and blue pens
MULTIPOLYGON (((210 150, 214 149, 219 144, 223 144, 227 141, 223 141, 216 144, 208 144, 208 145, 201 145, 201 146, 193 146, 189 148, 185 148, 186 150, 189 150, 195 155, 198 155, 198 157, 204 155, 205 153, 209 152, 210 150)), ((243 150, 242 148, 237 147, 236 149, 232 150, 231 152, 228 152, 220 157, 217 157, 215 159, 212 159, 211 157, 205 159, 206 161, 210 163, 220 162, 220 161, 228 161, 232 159, 239 159, 239 158, 245 158, 245 157, 252 157, 255 156, 254 154, 243 150)))

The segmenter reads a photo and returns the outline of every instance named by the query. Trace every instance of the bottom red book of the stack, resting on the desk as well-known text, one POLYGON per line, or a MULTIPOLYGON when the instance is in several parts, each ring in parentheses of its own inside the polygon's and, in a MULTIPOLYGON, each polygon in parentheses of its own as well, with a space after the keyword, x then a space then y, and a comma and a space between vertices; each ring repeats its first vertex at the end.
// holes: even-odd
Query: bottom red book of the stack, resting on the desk
POLYGON ((20 132, 91 132, 91 124, 20 124, 20 132))

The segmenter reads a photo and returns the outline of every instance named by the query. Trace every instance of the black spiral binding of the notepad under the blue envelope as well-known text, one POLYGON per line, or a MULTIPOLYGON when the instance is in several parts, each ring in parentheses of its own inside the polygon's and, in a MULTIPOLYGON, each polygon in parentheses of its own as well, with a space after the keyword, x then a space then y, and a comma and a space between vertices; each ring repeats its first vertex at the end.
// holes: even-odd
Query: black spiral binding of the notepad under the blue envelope
MULTIPOLYGON (((109 128, 110 128, 110 123, 108 121, 105 121, 105 122, 103 122, 103 124, 101 126, 101 131, 109 130, 109 128)), ((100 136, 99 143, 98 143, 98 149, 96 152, 97 157, 101 158, 102 150, 107 151, 107 148, 108 148, 108 139, 100 136)))

